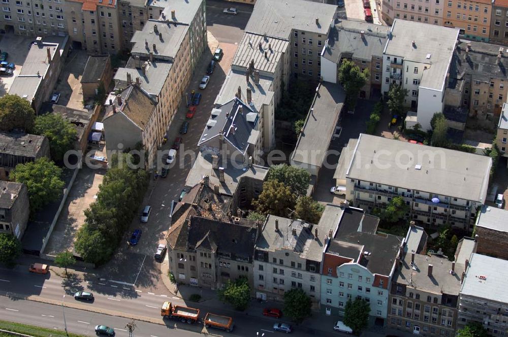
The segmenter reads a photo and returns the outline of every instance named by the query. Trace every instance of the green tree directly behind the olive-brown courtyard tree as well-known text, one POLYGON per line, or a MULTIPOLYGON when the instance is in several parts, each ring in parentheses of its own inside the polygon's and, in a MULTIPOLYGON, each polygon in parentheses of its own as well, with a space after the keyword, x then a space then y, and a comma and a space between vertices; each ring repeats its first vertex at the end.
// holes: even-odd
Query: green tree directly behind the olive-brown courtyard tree
POLYGON ((273 165, 268 170, 267 180, 277 180, 291 188, 295 195, 306 195, 310 174, 304 168, 287 164, 273 165))

